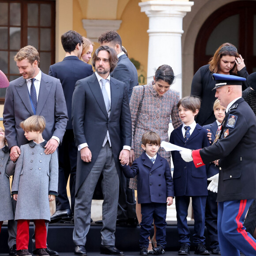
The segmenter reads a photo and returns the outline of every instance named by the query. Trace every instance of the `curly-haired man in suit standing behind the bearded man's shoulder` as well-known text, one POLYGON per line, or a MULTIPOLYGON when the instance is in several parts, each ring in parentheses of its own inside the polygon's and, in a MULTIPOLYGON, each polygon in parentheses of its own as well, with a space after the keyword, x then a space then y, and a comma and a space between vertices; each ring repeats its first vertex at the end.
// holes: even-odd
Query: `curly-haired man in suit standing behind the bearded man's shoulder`
MULTIPOLYGON (((130 102, 133 87, 139 85, 138 73, 131 60, 129 60, 122 50, 122 40, 120 35, 117 34, 116 31, 107 31, 99 37, 98 41, 100 45, 107 45, 116 51, 118 63, 117 67, 111 73, 111 76, 125 83, 130 102)), ((122 173, 122 177, 120 179, 117 224, 136 224, 136 202, 134 190, 129 188, 129 183, 130 179, 124 177, 124 174, 122 173)))

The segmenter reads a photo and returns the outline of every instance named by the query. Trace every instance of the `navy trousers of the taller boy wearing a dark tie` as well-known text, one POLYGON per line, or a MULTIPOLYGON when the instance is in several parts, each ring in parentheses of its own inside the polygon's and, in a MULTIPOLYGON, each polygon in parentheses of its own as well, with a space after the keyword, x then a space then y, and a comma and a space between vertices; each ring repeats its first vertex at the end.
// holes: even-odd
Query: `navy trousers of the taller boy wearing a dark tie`
MULTIPOLYGON (((193 243, 197 246, 200 243, 205 243, 204 234, 204 222, 205 222, 205 203, 206 196, 191 196, 192 197, 192 207, 194 211, 194 231, 193 243)), ((181 244, 190 245, 189 240, 190 232, 188 230, 188 206, 190 202, 190 196, 176 196, 175 205, 177 211, 177 226, 179 233, 179 242, 181 244)))

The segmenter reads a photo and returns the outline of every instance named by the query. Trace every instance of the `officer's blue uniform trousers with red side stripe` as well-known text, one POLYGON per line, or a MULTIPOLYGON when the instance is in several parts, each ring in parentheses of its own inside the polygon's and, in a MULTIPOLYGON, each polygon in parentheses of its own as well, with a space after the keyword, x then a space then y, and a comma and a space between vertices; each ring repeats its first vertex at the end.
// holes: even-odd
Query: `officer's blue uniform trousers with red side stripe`
POLYGON ((256 255, 256 240, 243 225, 253 200, 218 202, 218 242, 222 255, 256 255))

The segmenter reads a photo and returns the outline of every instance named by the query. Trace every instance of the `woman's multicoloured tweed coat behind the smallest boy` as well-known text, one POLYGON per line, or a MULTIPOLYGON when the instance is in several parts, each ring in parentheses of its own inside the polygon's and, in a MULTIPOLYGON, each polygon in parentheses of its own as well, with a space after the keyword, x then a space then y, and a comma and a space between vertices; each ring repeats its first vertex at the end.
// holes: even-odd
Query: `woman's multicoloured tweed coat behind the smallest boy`
MULTIPOLYGON (((143 95, 143 86, 136 86, 133 88, 130 101, 132 117, 132 149, 134 150, 135 159, 143 153, 143 149, 141 148, 141 138, 145 132, 156 132, 159 134, 161 141, 169 142, 168 129, 170 117, 172 118, 174 128, 181 125, 177 109, 177 104, 180 100, 179 92, 169 89, 163 96, 159 96, 152 83, 149 83, 144 87, 144 98, 139 111, 136 127, 135 122, 139 109, 139 102, 143 95)), ((158 153, 165 158, 168 161, 169 166, 171 166, 171 153, 166 152, 162 147, 159 148, 158 153)), ((130 188, 137 189, 137 177, 130 180, 130 188)))

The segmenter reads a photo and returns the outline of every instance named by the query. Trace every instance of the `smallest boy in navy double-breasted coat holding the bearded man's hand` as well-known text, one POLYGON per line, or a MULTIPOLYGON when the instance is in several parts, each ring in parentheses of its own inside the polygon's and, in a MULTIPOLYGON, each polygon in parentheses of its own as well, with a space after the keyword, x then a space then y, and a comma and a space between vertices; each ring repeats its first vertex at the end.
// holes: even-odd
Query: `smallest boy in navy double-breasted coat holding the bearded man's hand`
POLYGON ((141 203, 142 222, 140 223, 139 248, 140 255, 148 255, 148 237, 152 222, 156 226, 158 246, 152 254, 162 254, 166 246, 166 203, 173 203, 173 179, 169 164, 165 158, 157 154, 161 139, 155 132, 146 132, 142 136, 143 152, 132 166, 126 164, 121 157, 124 176, 133 178, 138 175, 138 203, 141 203))

